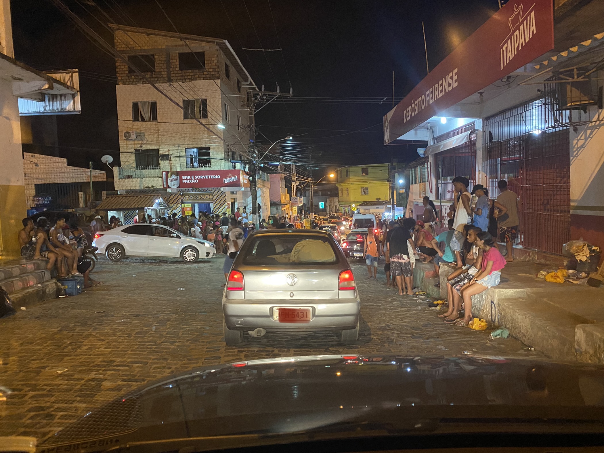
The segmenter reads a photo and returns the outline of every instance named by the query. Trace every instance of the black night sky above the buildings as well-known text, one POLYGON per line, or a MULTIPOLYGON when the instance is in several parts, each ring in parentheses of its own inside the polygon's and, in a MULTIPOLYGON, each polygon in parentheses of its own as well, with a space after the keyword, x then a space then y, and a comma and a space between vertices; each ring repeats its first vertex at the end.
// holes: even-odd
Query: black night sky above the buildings
MULTIPOLYGON (((91 0, 64 1, 112 42, 97 21, 108 19, 91 0)), ((155 0, 94 1, 118 24, 173 31, 155 0)), ((321 169, 416 159, 417 145, 382 145, 393 71, 396 103, 426 75, 422 21, 432 69, 498 9, 497 0, 159 2, 179 32, 228 39, 257 86, 289 91, 291 84, 292 100, 274 101, 256 115, 259 141, 293 135, 321 169)), ((114 59, 48 0, 13 0, 11 9, 18 60, 38 69, 80 69, 82 114, 58 117, 61 155, 82 167, 92 160, 99 169, 104 154, 118 161, 114 59)))

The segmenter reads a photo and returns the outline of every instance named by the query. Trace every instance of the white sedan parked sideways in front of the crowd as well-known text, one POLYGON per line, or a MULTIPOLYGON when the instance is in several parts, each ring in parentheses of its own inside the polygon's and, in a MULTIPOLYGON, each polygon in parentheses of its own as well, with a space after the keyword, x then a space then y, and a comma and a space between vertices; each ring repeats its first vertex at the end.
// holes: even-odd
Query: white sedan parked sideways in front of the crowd
POLYGON ((130 256, 181 258, 187 263, 216 254, 216 246, 210 241, 184 236, 172 228, 141 223, 118 226, 113 230, 99 231, 94 235, 93 247, 111 261, 130 256))

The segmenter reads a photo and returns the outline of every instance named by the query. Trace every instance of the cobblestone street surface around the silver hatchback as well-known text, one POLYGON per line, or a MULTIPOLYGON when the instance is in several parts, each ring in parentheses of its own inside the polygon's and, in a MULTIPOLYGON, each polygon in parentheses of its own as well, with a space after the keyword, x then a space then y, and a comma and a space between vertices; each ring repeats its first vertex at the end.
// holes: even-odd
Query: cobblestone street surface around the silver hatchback
POLYGON ((220 305, 222 256, 193 265, 101 258, 103 285, 0 320, 0 435, 46 437, 146 382, 200 365, 315 354, 540 356, 513 338, 447 326, 417 297, 399 296, 353 265, 361 294, 354 345, 336 332, 267 333, 227 347, 220 305), (523 349, 524 348, 524 349, 523 349))

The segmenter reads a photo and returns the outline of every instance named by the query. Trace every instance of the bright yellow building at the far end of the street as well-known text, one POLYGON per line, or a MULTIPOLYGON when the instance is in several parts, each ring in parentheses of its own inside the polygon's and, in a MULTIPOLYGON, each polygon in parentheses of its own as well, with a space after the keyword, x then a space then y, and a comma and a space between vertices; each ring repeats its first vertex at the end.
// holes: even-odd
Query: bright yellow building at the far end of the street
POLYGON ((338 169, 339 207, 342 212, 353 213, 359 204, 390 199, 388 164, 358 165, 338 169))

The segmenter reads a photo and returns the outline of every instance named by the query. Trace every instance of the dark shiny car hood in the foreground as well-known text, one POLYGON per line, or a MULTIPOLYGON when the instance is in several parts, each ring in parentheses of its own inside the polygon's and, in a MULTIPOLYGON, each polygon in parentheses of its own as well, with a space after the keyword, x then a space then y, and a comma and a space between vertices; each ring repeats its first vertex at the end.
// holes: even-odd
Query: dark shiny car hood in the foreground
POLYGON ((40 451, 321 431, 368 421, 413 429, 421 420, 434 428, 439 420, 518 418, 598 420, 602 426, 604 367, 492 356, 356 355, 217 365, 108 403, 47 439, 40 451))

